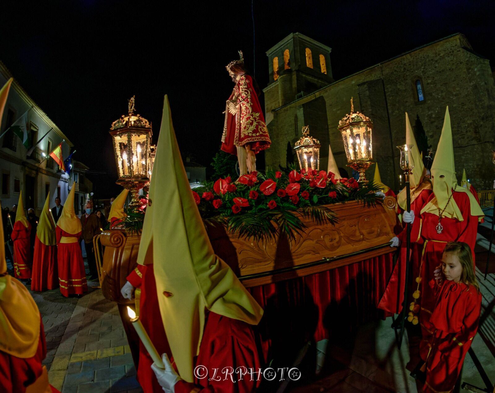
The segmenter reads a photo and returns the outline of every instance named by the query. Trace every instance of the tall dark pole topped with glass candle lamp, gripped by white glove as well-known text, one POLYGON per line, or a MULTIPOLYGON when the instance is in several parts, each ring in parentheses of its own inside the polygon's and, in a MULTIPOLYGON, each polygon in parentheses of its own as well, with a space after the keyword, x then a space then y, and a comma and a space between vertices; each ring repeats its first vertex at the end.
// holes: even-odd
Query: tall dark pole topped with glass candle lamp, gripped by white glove
MULTIPOLYGON (((409 186, 409 175, 411 174, 412 169, 414 168, 414 159, 411 154, 411 149, 413 145, 402 145, 397 146, 400 150, 400 169, 404 171, 404 183, 405 183, 405 195, 406 195, 406 211, 411 210, 411 189, 409 186)), ((410 273, 410 262, 409 262, 409 250, 411 249, 411 224, 406 224, 406 253, 405 253, 405 283, 404 283, 404 301, 402 303, 402 312, 399 314, 400 318, 400 335, 398 337, 397 346, 400 349, 400 345, 402 344, 402 336, 404 334, 404 322, 405 322, 405 313, 406 313, 406 304, 407 304, 407 295, 409 293, 409 273, 410 273)), ((419 282, 418 282, 419 284, 419 282)), ((416 291, 413 294, 415 297, 416 293, 419 297, 419 291, 416 291)), ((412 306, 414 308, 414 306, 412 306)), ((408 316, 408 320, 412 322, 414 325, 418 323, 418 317, 414 317, 411 309, 411 313, 408 316)))

